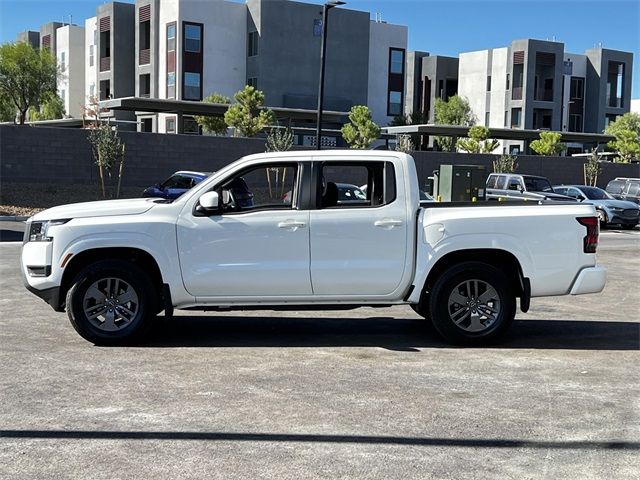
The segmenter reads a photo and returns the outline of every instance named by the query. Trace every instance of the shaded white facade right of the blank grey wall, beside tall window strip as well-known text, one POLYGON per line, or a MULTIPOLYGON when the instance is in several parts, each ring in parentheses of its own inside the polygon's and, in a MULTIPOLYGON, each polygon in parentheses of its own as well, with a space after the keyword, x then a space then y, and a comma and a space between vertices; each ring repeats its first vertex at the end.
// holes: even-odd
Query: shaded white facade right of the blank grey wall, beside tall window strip
MULTIPOLYGON (((408 28, 403 25, 392 25, 375 21, 370 23, 367 104, 371 110, 373 121, 380 126, 387 126, 389 122, 393 120, 393 116, 387 115, 389 49, 399 48, 405 51, 404 73, 406 78, 407 37, 408 28)), ((404 103, 403 98, 402 105, 404 103)))

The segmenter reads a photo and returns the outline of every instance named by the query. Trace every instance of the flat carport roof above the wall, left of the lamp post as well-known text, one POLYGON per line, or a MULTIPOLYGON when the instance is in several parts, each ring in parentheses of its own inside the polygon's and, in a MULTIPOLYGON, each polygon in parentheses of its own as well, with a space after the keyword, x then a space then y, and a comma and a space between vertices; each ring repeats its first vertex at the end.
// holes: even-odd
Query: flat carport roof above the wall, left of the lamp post
MULTIPOLYGON (((224 103, 190 102, 185 100, 165 100, 156 98, 124 97, 101 100, 100 108, 108 110, 124 110, 128 112, 174 113, 178 116, 178 132, 183 132, 184 115, 203 115, 222 117, 229 108, 224 103)), ((264 107, 269 108, 278 120, 285 122, 316 121, 316 110, 302 108, 264 107)), ((323 111, 325 121, 342 125, 347 121, 348 112, 323 111)))

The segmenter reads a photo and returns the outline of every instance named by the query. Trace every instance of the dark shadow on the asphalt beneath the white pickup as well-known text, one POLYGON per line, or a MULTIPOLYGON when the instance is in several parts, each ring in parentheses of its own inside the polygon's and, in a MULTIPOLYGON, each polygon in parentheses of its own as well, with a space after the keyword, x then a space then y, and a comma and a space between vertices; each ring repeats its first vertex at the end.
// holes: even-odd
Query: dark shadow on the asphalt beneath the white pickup
MULTIPOLYGON (((429 322, 399 318, 179 316, 158 322, 141 347, 452 348, 429 322)), ((455 347, 453 347, 455 348, 455 347)), ((495 349, 639 350, 640 324, 516 320, 495 349)))

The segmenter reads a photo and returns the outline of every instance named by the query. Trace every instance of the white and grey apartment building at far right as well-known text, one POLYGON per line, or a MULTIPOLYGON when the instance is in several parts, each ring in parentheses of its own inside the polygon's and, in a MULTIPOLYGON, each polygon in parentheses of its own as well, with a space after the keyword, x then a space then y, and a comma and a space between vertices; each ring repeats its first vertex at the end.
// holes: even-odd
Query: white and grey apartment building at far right
MULTIPOLYGON (((561 42, 515 40, 510 46, 460 54, 458 94, 488 127, 601 133, 629 111, 632 55, 564 52, 561 42)), ((520 153, 524 142, 496 151, 520 153)), ((582 145, 569 145, 581 151, 582 145)))

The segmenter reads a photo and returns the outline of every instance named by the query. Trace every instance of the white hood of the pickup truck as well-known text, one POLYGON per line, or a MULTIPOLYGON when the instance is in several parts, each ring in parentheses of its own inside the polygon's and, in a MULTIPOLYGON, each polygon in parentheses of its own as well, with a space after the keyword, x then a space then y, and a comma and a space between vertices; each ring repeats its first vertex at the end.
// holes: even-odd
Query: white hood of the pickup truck
POLYGON ((35 214, 32 220, 62 220, 67 218, 106 217, 112 215, 138 215, 158 202, 157 198, 128 198, 99 202, 71 203, 49 208, 35 214))

